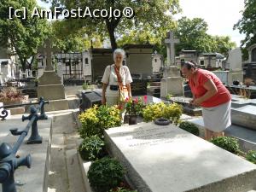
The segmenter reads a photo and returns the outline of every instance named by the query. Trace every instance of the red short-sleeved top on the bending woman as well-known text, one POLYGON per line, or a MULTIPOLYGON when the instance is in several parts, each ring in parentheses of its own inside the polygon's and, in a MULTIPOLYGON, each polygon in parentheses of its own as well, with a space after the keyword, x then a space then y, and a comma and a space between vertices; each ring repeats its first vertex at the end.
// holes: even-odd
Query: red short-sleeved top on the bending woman
POLYGON ((218 77, 214 73, 204 69, 198 69, 196 73, 196 83, 194 83, 192 79, 189 79, 189 86, 195 98, 199 98, 206 94, 207 89, 204 88, 203 85, 209 79, 212 79, 212 82, 216 85, 218 90, 218 93, 216 95, 212 96, 207 101, 202 102, 201 107, 212 108, 225 102, 229 102, 231 100, 230 91, 226 89, 224 84, 218 79, 218 77))

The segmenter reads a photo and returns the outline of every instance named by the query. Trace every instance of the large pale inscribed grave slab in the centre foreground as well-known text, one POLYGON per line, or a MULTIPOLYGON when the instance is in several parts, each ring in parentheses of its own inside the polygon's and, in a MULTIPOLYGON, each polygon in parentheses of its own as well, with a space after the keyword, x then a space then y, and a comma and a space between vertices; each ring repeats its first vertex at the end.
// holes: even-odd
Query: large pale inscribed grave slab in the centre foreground
POLYGON ((112 128, 105 141, 140 192, 256 189, 255 165, 174 125, 112 128))

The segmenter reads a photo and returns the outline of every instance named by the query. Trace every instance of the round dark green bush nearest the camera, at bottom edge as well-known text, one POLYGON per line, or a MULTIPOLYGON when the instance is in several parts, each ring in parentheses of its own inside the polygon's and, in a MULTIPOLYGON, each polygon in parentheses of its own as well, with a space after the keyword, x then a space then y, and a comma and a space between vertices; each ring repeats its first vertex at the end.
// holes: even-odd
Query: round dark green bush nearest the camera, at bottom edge
POLYGON ((88 171, 90 186, 97 192, 107 192, 118 187, 124 176, 124 167, 118 160, 109 157, 94 161, 88 171))

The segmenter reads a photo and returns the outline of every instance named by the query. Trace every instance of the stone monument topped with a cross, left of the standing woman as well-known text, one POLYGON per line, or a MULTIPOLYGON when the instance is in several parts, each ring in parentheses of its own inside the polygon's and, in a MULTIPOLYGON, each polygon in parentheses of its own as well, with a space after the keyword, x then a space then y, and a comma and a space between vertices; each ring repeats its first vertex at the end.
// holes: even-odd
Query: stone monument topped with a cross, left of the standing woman
POLYGON ((38 79, 38 98, 44 96, 45 100, 50 100, 49 107, 46 110, 64 110, 68 109, 68 103, 65 96, 64 85, 61 84, 59 77, 51 64, 51 45, 49 39, 46 46, 41 51, 46 52, 46 67, 43 75, 38 79))

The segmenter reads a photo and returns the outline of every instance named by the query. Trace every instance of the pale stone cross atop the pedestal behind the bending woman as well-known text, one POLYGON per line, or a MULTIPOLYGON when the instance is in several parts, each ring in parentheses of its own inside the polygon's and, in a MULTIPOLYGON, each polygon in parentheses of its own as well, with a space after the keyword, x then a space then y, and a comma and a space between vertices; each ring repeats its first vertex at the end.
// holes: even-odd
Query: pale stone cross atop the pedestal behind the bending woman
POLYGON ((167 32, 165 44, 167 48, 167 66, 174 66, 175 64, 175 48, 174 44, 179 43, 179 39, 175 39, 173 32, 167 32))

